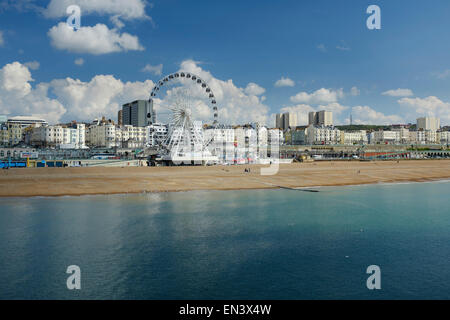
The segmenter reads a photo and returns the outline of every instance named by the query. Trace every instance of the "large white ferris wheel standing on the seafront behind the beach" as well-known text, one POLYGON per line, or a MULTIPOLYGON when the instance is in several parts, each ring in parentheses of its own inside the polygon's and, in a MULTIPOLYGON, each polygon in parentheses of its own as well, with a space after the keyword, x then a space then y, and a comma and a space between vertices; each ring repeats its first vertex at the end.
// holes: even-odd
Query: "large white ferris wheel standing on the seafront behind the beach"
POLYGON ((158 141, 163 153, 172 159, 189 160, 204 158, 210 152, 214 135, 205 136, 203 127, 217 129, 218 107, 203 79, 190 72, 165 76, 153 87, 149 102, 155 106, 159 121, 168 125, 167 135, 158 141))

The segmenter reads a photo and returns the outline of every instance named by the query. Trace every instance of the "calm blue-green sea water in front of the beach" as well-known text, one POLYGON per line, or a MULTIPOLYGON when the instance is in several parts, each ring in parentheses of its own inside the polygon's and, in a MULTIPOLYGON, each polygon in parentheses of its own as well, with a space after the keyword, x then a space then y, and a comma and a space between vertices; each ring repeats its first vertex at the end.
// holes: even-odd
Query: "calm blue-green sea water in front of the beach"
POLYGON ((0 199, 0 299, 450 298, 449 182, 320 190, 0 199))

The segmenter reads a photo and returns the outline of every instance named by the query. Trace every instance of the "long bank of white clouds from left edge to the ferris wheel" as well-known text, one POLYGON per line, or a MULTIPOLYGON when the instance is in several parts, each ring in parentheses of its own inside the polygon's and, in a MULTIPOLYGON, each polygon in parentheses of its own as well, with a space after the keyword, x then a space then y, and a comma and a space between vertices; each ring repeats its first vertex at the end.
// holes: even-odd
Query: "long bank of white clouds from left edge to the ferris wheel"
POLYGON ((115 119, 123 103, 148 99, 153 87, 151 80, 122 82, 110 75, 89 82, 55 79, 35 89, 32 81, 29 69, 19 62, 0 69, 0 114, 39 116, 50 123, 90 121, 103 115, 115 119))

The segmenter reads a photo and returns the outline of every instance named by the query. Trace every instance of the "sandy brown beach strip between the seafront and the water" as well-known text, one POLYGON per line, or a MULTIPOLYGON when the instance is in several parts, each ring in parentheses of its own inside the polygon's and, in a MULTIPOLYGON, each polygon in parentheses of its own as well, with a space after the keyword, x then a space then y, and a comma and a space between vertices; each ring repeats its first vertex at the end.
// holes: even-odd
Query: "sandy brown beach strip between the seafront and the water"
POLYGON ((0 171, 0 197, 63 196, 188 190, 339 186, 450 179, 450 160, 314 162, 263 166, 29 168, 0 171), (244 168, 251 173, 244 173, 244 168))

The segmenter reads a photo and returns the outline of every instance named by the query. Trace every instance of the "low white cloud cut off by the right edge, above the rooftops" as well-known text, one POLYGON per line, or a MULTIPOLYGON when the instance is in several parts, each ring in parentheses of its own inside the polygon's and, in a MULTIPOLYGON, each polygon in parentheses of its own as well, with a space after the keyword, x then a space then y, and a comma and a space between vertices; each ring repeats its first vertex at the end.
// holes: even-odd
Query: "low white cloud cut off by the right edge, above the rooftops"
POLYGON ((437 97, 402 98, 398 103, 414 111, 411 116, 430 116, 441 118, 442 123, 450 124, 450 102, 444 102, 437 97))

